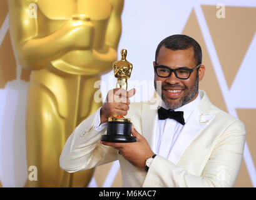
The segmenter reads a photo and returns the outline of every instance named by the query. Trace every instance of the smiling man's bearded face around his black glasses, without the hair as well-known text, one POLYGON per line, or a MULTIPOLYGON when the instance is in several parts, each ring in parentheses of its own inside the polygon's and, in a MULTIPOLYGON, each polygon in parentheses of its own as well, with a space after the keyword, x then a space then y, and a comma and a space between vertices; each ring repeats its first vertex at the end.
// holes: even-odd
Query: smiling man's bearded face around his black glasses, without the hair
MULTIPOLYGON (((167 66, 171 69, 186 67, 193 69, 197 66, 194 58, 193 47, 185 50, 173 51, 165 46, 160 47, 156 65, 167 66)), ((155 73, 155 88, 156 81, 161 81, 161 98, 169 109, 177 109, 181 106, 190 103, 198 94, 198 81, 203 79, 205 66, 201 66, 190 75, 188 79, 178 79, 175 73, 172 73, 168 78, 161 78, 155 73)))

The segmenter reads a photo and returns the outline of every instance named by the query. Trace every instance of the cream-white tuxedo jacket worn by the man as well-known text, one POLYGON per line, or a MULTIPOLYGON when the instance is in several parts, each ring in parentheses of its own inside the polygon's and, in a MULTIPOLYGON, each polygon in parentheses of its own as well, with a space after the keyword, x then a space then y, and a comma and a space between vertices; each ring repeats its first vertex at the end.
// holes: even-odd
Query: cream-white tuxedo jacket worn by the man
MULTIPOLYGON (((232 187, 242 163, 245 127, 216 108, 204 91, 202 100, 182 129, 170 156, 156 156, 148 173, 126 161, 115 148, 100 144, 106 128, 94 128, 96 113, 69 136, 59 160, 74 173, 119 159, 124 187, 232 187)), ((155 145, 157 110, 149 103, 131 103, 128 118, 151 148, 155 145)))

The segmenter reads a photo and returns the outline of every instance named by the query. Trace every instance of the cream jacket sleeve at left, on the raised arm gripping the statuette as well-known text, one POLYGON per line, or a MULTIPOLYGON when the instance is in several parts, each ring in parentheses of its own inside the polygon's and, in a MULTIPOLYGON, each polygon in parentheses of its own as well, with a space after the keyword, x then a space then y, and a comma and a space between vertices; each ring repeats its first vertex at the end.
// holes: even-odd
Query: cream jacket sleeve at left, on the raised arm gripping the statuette
POLYGON ((100 109, 79 124, 69 136, 59 158, 59 166, 68 173, 94 168, 118 159, 115 148, 100 144, 106 126, 95 129, 96 116, 100 109))

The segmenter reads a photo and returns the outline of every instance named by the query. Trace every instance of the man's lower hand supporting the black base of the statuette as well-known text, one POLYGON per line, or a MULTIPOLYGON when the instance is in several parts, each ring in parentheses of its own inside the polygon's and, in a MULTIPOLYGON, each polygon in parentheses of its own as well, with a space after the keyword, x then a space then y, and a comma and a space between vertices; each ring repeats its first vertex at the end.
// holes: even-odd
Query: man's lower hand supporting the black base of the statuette
POLYGON ((113 146, 119 150, 119 153, 131 164, 138 168, 145 168, 146 159, 153 156, 155 153, 150 148, 146 139, 138 133, 134 126, 131 127, 131 134, 137 138, 136 143, 110 143, 101 141, 101 144, 113 146))

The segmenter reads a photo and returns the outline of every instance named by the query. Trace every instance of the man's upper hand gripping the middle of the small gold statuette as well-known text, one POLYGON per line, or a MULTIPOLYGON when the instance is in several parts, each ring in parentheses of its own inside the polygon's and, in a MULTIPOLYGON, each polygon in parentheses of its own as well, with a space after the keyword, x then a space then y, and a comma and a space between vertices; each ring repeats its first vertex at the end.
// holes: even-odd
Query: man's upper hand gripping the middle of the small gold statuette
POLYGON ((134 94, 135 89, 128 92, 125 89, 111 89, 100 111, 101 124, 106 123, 110 117, 126 116, 130 105, 129 98, 134 94))

